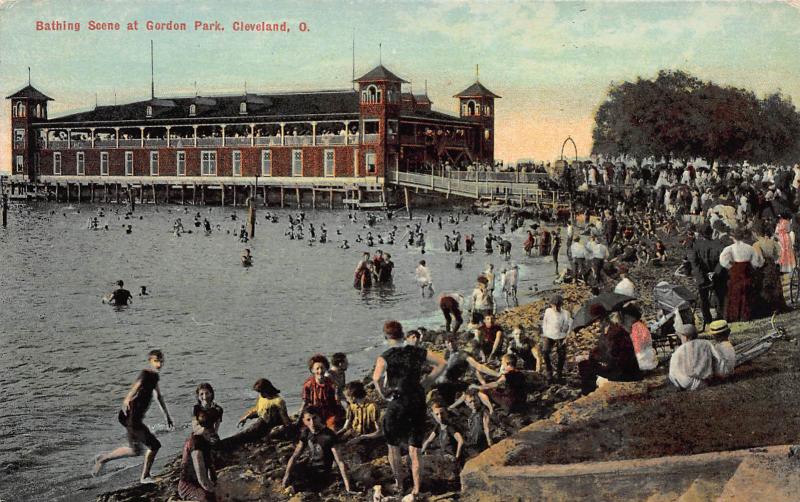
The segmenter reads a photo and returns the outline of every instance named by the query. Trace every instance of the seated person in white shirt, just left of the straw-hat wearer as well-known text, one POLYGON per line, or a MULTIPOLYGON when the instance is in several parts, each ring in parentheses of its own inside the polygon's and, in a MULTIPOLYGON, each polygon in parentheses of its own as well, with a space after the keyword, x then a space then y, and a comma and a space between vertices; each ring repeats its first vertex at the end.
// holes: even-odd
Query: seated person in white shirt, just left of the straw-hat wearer
MULTIPOLYGON (((677 315, 676 321, 679 318, 680 315, 677 315)), ((698 339, 693 324, 676 323, 675 330, 681 345, 669 360, 669 381, 680 390, 702 389, 719 364, 714 345, 708 340, 698 339)))

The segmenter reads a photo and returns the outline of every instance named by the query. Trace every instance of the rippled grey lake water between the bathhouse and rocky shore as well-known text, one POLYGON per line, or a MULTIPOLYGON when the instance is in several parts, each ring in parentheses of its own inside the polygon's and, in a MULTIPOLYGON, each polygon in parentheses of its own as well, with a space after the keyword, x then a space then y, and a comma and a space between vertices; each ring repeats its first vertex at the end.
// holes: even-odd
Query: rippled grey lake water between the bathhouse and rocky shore
MULTIPOLYGON (((406 329, 443 325, 436 296, 422 298, 414 281, 422 258, 418 249, 380 246, 395 262, 393 287, 353 288, 353 270, 368 250, 354 242, 357 233, 367 232, 363 214, 354 224, 346 211, 306 211, 307 222, 317 228, 326 224, 330 239, 309 247, 305 240, 284 236, 288 215, 296 211, 271 210, 279 217, 273 224, 259 210, 256 239, 242 244, 226 231, 239 228, 243 210, 137 207, 135 219, 126 221, 123 207, 106 206, 101 226, 107 223, 109 230, 86 229, 98 208, 16 205, 8 228, 0 229, 0 498, 5 501, 93 500, 100 491, 138 479, 141 458, 110 463, 99 478, 89 472, 95 454, 125 444, 116 413, 152 348, 165 353, 161 389, 176 424, 175 431, 166 431, 153 403, 145 423, 163 444, 157 475, 188 435, 200 382, 214 386, 225 409, 224 437, 252 405, 250 388, 258 378, 271 379, 293 413, 313 353, 346 352, 348 378, 360 378, 382 350, 385 320, 405 321, 406 329), (177 217, 187 230, 201 230, 191 225, 197 209, 221 231, 174 236, 177 217), (230 218, 234 212, 237 221, 230 218), (132 233, 126 234, 123 225, 129 223, 132 233), (342 239, 352 248, 340 249, 342 239), (251 268, 239 261, 245 247, 254 256, 251 268), (121 310, 103 305, 102 295, 117 279, 134 295, 147 285, 150 295, 135 296, 121 310)), ((505 262, 497 253, 483 252, 487 218, 471 216, 458 225, 462 235, 475 234, 478 251, 465 254, 464 267, 457 270, 455 255, 443 249, 443 234, 453 225, 447 223, 448 213, 434 214, 445 215, 444 230, 424 226, 424 258, 437 295, 460 291, 468 296, 490 261, 499 280, 505 262)), ((421 212, 415 218, 424 222, 421 212)), ((385 235, 397 225, 399 243, 407 223, 403 213, 371 231, 385 235)), ((521 266, 524 300, 534 283, 551 283, 552 264, 523 258, 523 230, 506 237, 521 266)))

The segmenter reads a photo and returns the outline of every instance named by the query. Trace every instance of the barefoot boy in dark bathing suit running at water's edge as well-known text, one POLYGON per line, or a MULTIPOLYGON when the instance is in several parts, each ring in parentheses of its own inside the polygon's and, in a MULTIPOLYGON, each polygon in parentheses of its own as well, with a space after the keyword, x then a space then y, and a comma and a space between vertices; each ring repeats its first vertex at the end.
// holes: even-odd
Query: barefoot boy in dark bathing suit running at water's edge
POLYGON ((167 419, 167 426, 172 429, 173 424, 164 402, 164 396, 161 395, 161 389, 158 387, 158 372, 164 363, 164 354, 160 350, 151 350, 147 354, 147 361, 150 363, 150 367, 139 373, 133 387, 122 401, 122 410, 119 412, 119 421, 128 432, 128 446, 120 446, 116 450, 98 455, 94 463, 93 474, 95 476, 100 473, 103 465, 108 461, 138 457, 142 454, 142 446, 144 446, 147 451, 144 455, 144 467, 139 481, 142 483, 153 482, 150 477, 150 468, 153 466, 158 449, 161 448, 161 443, 142 422, 147 408, 150 407, 150 401, 153 399, 153 392, 155 392, 161 411, 164 412, 164 417, 167 419))

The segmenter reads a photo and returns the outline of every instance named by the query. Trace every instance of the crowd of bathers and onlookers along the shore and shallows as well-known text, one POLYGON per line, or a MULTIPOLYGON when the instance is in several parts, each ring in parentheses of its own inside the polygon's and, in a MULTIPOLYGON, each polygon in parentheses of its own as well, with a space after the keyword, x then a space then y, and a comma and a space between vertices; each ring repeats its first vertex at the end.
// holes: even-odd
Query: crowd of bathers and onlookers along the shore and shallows
MULTIPOLYGON (((610 292, 630 298, 618 309, 600 305, 589 309, 600 334, 594 348, 575 359, 583 393, 606 381, 640 380, 659 365, 668 366, 669 381, 680 390, 694 391, 723 380, 736 365, 729 323, 789 308, 784 286, 796 266, 798 219, 793 215, 800 205, 799 166, 791 170, 773 166, 695 169, 691 165, 637 168, 587 163, 568 166, 557 182, 574 194, 576 207, 583 205, 584 212, 563 227, 553 220, 527 226, 524 218, 511 213, 492 216, 484 252, 491 255, 497 250, 509 259, 513 243, 503 236, 509 235, 507 231, 525 229, 519 253, 552 259, 556 283, 584 283, 592 289, 593 298, 610 292), (608 192, 600 189, 604 185, 608 192), (562 233, 569 267, 559 270, 562 233), (676 262, 680 264, 677 270, 666 267, 676 262), (637 272, 652 267, 661 267, 655 270, 666 279, 693 279, 706 326, 703 338, 693 320, 674 312, 673 329, 680 343, 668 363, 659 360, 654 349, 654 334, 643 319, 643 310, 649 306, 639 299, 637 272)), ((275 218, 267 216, 273 222, 275 218)), ((354 223, 357 218, 350 216, 354 223)), ((397 240, 399 245, 425 254, 421 223, 407 225, 400 238, 396 236, 398 227, 393 226, 388 235, 378 234, 376 239, 370 228, 377 218, 365 217, 368 232, 366 239, 359 235, 359 244, 372 247, 379 239, 379 244, 393 245, 397 240)), ((466 220, 467 216, 450 215, 449 222, 457 224, 459 218, 466 220)), ((441 217, 437 222, 428 215, 425 223, 442 230, 441 217)), ((322 228, 321 235, 326 233, 322 228)), ((304 239, 306 234, 310 234, 309 244, 317 241, 313 225, 301 215, 290 217, 287 238, 304 239)), ((464 251, 476 251, 474 235, 462 237, 457 229, 442 234, 445 252, 459 256, 456 267, 464 251)), ((321 238, 318 242, 324 243, 321 238)), ((391 255, 382 249, 374 255, 364 252, 354 273, 354 286, 363 289, 387 284, 392 281, 393 268, 391 255)), ((516 264, 509 264, 499 277, 509 306, 516 304, 518 270, 516 264)), ((414 275, 422 296, 433 296, 433 273, 424 259, 419 260, 414 275)), ((537 385, 567 383, 567 347, 575 336, 575 312, 564 305, 561 295, 554 294, 538 330, 526 333, 522 326, 515 326, 506 333, 495 317, 497 282, 494 265, 487 264, 470 295, 440 293, 438 305, 447 331, 444 356, 423 343, 423 332, 405 331, 397 321, 383 326, 388 349, 375 361, 369 381, 348 381, 344 354, 333 354, 330 360, 313 355, 308 362, 310 376, 300 387, 303 406, 297 419, 289 417, 280 391, 262 378, 253 386, 258 393, 255 405, 239 420, 240 426, 250 420, 252 424, 220 439, 222 409, 214 404, 211 385, 199 386, 192 433, 183 450, 180 496, 215 500, 210 452, 269 441, 279 428, 294 431, 296 440, 282 479, 284 486, 318 491, 338 477, 347 492, 358 489, 351 484, 342 450, 350 441, 382 437, 395 491, 403 493, 406 488, 402 456, 407 452, 410 493, 418 495, 422 453, 438 448, 463 461, 493 443, 493 414, 524 413, 528 396, 537 385), (541 381, 538 374, 542 374, 541 381), (462 404, 469 413, 466 421, 459 422, 452 412, 462 404), (305 460, 304 452, 308 453, 305 460)), ((96 472, 108 461, 144 452, 142 481, 150 480, 160 444, 142 419, 152 396, 172 424, 158 388, 163 360, 159 351, 149 354, 150 367, 126 396, 119 416, 129 444, 98 456, 96 472)))

